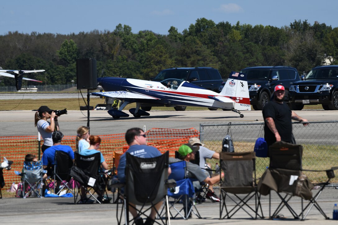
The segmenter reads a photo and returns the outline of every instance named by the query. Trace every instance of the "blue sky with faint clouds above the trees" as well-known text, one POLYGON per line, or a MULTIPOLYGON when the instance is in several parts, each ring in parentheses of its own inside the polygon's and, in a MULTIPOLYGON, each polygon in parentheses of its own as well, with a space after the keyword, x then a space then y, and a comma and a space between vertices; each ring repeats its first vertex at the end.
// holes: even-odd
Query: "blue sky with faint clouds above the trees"
POLYGON ((337 0, 4 0, 0 3, 0 35, 20 33, 78 33, 94 29, 113 31, 119 23, 132 32, 152 30, 168 34, 171 26, 182 32, 198 18, 216 24, 276 27, 294 20, 338 27, 337 0))

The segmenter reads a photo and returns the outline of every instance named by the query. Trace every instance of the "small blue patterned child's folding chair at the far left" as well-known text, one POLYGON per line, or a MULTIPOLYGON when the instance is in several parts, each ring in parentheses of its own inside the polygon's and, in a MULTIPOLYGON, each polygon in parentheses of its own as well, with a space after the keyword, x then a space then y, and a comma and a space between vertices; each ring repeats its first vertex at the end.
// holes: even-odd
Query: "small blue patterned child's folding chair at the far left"
POLYGON ((42 160, 37 162, 24 161, 23 172, 15 171, 15 174, 21 176, 21 195, 23 198, 28 196, 42 198, 42 179, 45 173, 47 171, 42 168, 42 160))

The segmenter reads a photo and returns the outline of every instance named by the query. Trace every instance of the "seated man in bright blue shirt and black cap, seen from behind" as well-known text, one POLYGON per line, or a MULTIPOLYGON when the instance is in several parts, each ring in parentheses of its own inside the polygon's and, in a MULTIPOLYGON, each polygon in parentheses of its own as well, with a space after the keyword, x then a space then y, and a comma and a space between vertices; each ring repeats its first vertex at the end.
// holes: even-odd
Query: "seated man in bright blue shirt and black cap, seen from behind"
MULTIPOLYGON (((43 155, 42 155, 42 165, 43 168, 47 170, 47 175, 50 176, 54 169, 54 158, 55 158, 55 151, 63 151, 66 152, 70 159, 73 160, 74 163, 74 152, 72 148, 68 145, 61 145, 61 141, 63 138, 63 133, 61 131, 54 131, 52 133, 52 140, 53 140, 53 146, 47 148, 43 155)), ((61 185, 61 181, 56 181, 56 187, 55 192, 57 193, 58 187, 61 185)))

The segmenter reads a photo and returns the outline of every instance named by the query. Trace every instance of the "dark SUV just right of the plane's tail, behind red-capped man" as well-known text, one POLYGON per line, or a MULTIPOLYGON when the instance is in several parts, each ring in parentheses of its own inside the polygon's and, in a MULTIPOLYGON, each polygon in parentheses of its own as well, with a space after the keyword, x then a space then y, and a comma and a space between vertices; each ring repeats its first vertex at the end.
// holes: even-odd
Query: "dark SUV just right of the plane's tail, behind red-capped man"
POLYGON ((250 103, 255 110, 263 109, 278 84, 285 87, 285 101, 288 103, 291 84, 300 80, 297 69, 289 66, 247 67, 241 73, 247 76, 250 103))

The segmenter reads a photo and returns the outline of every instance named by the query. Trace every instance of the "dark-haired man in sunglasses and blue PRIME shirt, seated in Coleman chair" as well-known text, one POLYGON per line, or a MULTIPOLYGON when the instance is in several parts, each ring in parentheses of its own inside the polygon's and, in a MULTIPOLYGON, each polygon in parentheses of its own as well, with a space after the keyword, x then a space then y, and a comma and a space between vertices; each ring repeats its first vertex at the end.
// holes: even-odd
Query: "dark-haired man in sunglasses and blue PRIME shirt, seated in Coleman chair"
MULTIPOLYGON (((126 152, 129 152, 131 155, 140 158, 154 158, 162 155, 161 152, 155 147, 147 146, 147 136, 141 128, 131 128, 127 130, 125 134, 125 139, 127 144, 129 145, 129 148, 126 152)), ((120 158, 119 166, 117 167, 117 175, 121 183, 125 183, 125 167, 126 167, 126 154, 123 154, 120 158)), ((168 172, 170 174, 170 168, 168 172)), ((132 205, 131 203, 129 204, 132 205)), ((155 205, 157 211, 159 211, 161 205, 162 201, 155 205)), ((154 208, 151 208, 150 215, 146 219, 144 224, 154 223, 156 210, 154 208)), ((143 219, 141 217, 137 217, 137 212, 134 208, 129 206, 129 212, 134 217, 136 225, 143 224, 143 219)))

